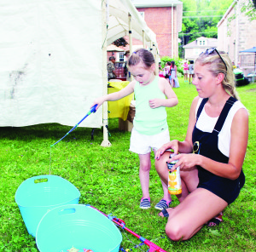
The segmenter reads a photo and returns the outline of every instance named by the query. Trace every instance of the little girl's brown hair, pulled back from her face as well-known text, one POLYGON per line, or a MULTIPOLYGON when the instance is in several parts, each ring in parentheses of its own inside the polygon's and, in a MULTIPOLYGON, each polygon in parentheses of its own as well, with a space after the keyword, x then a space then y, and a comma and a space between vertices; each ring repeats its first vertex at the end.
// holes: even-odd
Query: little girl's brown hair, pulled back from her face
POLYGON ((155 63, 154 55, 147 49, 137 49, 129 57, 128 66, 136 66, 140 62, 143 62, 145 67, 148 69, 155 63))

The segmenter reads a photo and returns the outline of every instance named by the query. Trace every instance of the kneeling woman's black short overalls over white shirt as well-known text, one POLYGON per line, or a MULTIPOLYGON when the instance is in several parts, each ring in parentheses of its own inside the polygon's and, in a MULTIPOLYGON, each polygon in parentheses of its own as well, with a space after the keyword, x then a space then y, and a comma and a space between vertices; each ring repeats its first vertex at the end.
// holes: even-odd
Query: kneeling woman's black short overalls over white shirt
MULTIPOLYGON (((208 99, 203 99, 201 101, 201 105, 199 106, 196 114, 196 121, 200 117, 201 111, 207 100, 208 99)), ((224 121, 230 112, 230 108, 235 102, 236 99, 233 97, 230 97, 230 99, 226 101, 224 108, 218 117, 218 121, 212 130, 212 133, 203 132, 196 127, 194 128, 192 134, 193 143, 195 143, 195 141, 199 141, 199 150, 195 153, 201 154, 202 156, 211 158, 212 160, 220 163, 229 163, 229 157, 224 156, 224 154, 218 150, 218 133, 221 131, 224 121)), ((235 201, 239 195, 241 187, 245 183, 245 176, 242 170, 238 179, 230 180, 219 177, 218 175, 213 175, 206 169, 201 168, 201 166, 197 166, 197 168, 199 177, 198 188, 201 187, 207 189, 208 191, 216 194, 218 197, 223 198, 224 201, 229 204, 235 201)))

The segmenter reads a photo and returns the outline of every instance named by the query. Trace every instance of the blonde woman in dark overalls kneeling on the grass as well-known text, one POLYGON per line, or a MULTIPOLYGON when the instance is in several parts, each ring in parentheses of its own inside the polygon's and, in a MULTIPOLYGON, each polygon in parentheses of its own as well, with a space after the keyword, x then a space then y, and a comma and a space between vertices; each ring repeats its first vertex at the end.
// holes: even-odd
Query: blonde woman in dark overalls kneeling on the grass
POLYGON ((233 66, 228 54, 207 49, 195 60, 192 83, 198 96, 189 112, 185 140, 172 140, 156 152, 156 169, 167 183, 166 162, 177 160, 182 193, 169 216, 166 234, 173 241, 187 240, 207 226, 216 226, 222 212, 238 197, 245 183, 242 171, 247 140, 248 112, 238 100, 233 66), (169 158, 172 149, 177 154, 169 158))

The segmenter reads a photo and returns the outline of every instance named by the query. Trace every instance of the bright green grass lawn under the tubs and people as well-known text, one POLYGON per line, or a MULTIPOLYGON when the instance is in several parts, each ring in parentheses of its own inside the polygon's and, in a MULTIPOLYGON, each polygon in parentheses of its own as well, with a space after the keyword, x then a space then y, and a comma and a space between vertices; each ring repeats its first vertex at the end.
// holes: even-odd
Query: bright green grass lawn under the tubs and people
MULTIPOLYGON (((194 85, 183 83, 182 79, 180 84, 181 88, 174 89, 179 103, 167 108, 167 119, 171 138, 183 140, 189 107, 197 93, 194 85)), ((88 203, 106 214, 119 217, 132 231, 152 240, 166 251, 255 251, 256 84, 237 90, 250 112, 249 140, 243 165, 246 184, 236 202, 225 209, 223 224, 204 227, 186 242, 172 242, 166 238, 167 220, 161 219, 154 207, 148 210, 138 207, 142 197, 138 177, 139 160, 137 154, 128 151, 131 133, 119 132, 118 119, 109 120, 111 147, 101 146, 102 129, 96 129, 94 140, 91 140, 91 129, 78 128, 50 150, 50 145, 71 127, 56 123, 22 128, 2 127, 0 251, 38 251, 35 239, 26 232, 15 203, 15 192, 24 180, 36 175, 48 175, 49 169, 52 175, 59 175, 79 188, 79 203, 88 203)), ((154 166, 150 171, 150 192, 154 205, 162 197, 160 179, 154 166)), ((176 198, 172 205, 177 205, 176 198)), ((128 232, 122 231, 122 235, 121 247, 147 251, 145 245, 134 249, 134 244, 140 241, 128 232)))

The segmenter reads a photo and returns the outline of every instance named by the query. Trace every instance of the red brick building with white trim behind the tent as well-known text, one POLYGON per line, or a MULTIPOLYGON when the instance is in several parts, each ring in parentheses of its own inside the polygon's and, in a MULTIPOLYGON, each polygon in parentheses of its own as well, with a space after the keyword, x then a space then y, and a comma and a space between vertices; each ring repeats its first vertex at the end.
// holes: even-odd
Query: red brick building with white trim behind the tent
POLYGON ((177 0, 131 0, 156 34, 160 57, 178 56, 178 32, 182 30, 183 3, 177 0))

